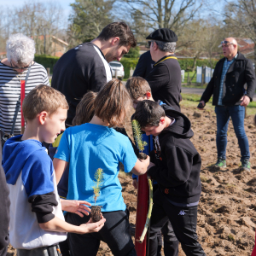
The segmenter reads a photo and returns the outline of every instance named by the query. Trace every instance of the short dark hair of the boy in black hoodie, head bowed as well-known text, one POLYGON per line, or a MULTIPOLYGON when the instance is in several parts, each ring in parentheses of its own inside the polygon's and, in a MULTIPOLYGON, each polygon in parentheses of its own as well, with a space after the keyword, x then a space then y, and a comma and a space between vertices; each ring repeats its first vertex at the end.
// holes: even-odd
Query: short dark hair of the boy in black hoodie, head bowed
POLYGON ((132 119, 136 119, 142 128, 146 126, 158 126, 161 117, 165 117, 166 113, 159 103, 153 101, 138 102, 136 112, 133 114, 132 119))

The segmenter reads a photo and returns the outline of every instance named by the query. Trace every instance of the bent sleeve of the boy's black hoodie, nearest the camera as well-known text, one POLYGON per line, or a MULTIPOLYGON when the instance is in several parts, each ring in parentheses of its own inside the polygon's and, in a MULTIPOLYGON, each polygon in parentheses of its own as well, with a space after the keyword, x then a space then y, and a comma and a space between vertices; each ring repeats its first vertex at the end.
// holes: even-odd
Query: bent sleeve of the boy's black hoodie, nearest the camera
POLYGON ((153 166, 148 175, 165 187, 177 187, 185 183, 190 176, 193 155, 179 147, 165 149, 166 168, 153 166))

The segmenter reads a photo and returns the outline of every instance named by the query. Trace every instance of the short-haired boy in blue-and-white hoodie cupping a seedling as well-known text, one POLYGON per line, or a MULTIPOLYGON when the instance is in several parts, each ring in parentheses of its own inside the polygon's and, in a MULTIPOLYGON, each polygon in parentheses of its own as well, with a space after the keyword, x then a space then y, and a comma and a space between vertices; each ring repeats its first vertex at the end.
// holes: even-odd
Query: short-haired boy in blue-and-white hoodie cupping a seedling
POLYGON ((64 201, 61 205, 52 161, 43 142, 53 143, 65 130, 67 101, 59 91, 41 84, 30 91, 22 104, 26 130, 10 138, 3 147, 3 170, 9 185, 10 243, 18 256, 51 256, 59 251, 58 242, 66 232, 84 234, 100 230, 96 224, 72 225, 61 210, 79 216, 90 211, 86 201, 64 201))

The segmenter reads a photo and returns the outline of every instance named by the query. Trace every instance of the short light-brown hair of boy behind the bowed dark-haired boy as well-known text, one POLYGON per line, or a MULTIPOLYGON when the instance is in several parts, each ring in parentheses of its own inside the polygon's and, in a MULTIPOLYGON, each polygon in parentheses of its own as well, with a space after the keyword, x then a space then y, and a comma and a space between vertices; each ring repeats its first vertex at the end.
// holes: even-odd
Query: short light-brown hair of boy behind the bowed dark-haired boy
POLYGON ((129 91, 133 101, 137 101, 139 97, 146 96, 147 91, 151 92, 148 82, 141 77, 128 79, 125 87, 129 91))

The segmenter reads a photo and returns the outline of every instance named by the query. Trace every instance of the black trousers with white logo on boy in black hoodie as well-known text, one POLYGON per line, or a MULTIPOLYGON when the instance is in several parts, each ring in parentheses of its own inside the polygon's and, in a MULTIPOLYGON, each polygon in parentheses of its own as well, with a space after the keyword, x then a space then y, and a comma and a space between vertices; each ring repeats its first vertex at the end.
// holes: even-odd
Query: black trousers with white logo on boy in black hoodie
POLYGON ((187 256, 206 256, 201 244, 197 241, 197 206, 173 206, 169 201, 167 201, 166 196, 161 193, 160 189, 157 189, 154 193, 153 201, 154 205, 150 222, 148 255, 157 255, 157 233, 169 219, 175 236, 182 245, 183 252, 187 256))

